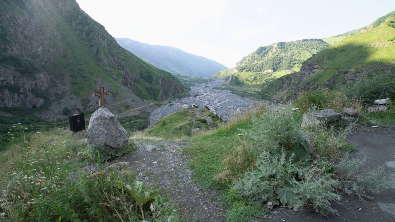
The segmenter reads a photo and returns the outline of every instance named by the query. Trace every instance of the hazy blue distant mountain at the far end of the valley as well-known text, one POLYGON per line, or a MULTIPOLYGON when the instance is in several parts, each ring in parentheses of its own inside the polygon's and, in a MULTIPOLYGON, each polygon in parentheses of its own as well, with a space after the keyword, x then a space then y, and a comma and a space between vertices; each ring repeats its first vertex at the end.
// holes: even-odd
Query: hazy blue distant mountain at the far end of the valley
POLYGON ((214 60, 171 46, 149 45, 128 38, 115 38, 115 40, 142 60, 174 74, 209 77, 220 70, 228 69, 214 60))

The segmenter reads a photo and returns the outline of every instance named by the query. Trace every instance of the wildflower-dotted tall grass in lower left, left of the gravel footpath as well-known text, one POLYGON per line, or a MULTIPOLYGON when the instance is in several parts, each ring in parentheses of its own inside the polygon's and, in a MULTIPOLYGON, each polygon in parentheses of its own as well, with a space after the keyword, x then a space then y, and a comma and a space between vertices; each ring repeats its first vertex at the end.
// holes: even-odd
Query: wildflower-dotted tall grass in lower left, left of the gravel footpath
POLYGON ((98 164, 89 148, 77 143, 84 136, 79 135, 37 132, 0 153, 1 222, 139 222, 154 213, 161 221, 179 220, 174 205, 157 196, 157 189, 134 180, 136 168, 126 162, 98 164), (150 210, 151 203, 156 211, 150 210))

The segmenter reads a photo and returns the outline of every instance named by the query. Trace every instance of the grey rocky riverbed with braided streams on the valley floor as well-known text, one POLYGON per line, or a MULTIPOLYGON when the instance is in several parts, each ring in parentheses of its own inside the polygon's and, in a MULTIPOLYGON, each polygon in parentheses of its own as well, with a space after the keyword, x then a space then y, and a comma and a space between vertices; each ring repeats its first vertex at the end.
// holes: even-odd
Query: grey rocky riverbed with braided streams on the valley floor
POLYGON ((195 103, 199 107, 207 105, 211 112, 217 114, 225 121, 228 121, 233 113, 243 112, 251 106, 251 103, 259 102, 257 100, 250 100, 249 98, 237 96, 232 94, 229 90, 213 89, 222 84, 224 84, 222 80, 196 84, 194 87, 191 87, 190 97, 172 100, 170 103, 155 109, 149 117, 150 124, 153 124, 160 118, 174 113, 175 111, 184 109, 188 107, 188 105, 192 105, 192 103, 195 103))

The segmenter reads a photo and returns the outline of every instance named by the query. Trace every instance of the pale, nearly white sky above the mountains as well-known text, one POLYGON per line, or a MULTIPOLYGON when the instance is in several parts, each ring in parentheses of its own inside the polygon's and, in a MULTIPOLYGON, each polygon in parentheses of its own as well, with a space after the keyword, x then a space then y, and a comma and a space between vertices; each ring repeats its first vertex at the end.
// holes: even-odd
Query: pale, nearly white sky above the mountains
POLYGON ((117 38, 169 45, 233 68, 259 46, 326 38, 395 10, 395 0, 77 0, 117 38))

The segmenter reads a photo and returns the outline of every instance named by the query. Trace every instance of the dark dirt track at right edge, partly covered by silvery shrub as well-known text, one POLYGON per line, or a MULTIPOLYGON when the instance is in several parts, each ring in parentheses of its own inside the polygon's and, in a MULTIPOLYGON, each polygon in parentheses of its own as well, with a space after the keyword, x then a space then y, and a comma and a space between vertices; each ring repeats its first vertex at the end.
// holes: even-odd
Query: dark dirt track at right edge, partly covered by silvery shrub
MULTIPOLYGON (((362 127, 348 135, 348 142, 357 146, 358 151, 350 154, 352 158, 366 157, 367 167, 385 166, 385 175, 395 180, 395 125, 388 128, 362 127)), ((329 218, 314 211, 293 212, 288 208, 276 207, 271 218, 254 220, 256 222, 337 222, 337 221, 395 221, 395 182, 385 192, 375 196, 373 201, 363 203, 358 198, 345 195, 340 203, 332 204, 339 215, 329 218)))

